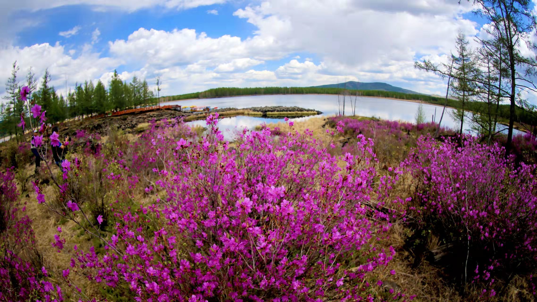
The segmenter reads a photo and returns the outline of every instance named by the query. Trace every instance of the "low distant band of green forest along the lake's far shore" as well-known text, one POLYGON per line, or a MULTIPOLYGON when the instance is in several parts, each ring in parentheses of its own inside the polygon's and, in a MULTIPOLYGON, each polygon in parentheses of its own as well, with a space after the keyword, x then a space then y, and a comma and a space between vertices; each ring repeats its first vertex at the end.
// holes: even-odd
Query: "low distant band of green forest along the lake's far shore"
MULTIPOLYGON (((383 97, 395 98, 402 100, 419 100, 424 103, 444 106, 445 98, 433 97, 430 95, 420 94, 405 94, 403 92, 384 91, 384 90, 349 90, 342 88, 318 88, 318 87, 254 87, 254 88, 213 88, 202 92, 194 92, 192 94, 175 95, 162 97, 162 102, 170 100, 194 99, 194 98, 217 98, 231 96, 248 96, 248 95, 306 95, 306 94, 326 94, 326 95, 348 95, 348 96, 366 96, 366 97, 383 97)), ((448 99, 447 106, 456 109, 462 108, 462 103, 459 100, 448 99)), ((482 102, 467 102, 465 110, 480 112, 482 102)), ((495 108, 493 109, 493 111, 495 108)), ((495 112, 492 112, 495 113, 495 112)), ((522 123, 534 125, 535 118, 531 113, 517 107, 516 114, 518 120, 522 123)), ((503 119, 509 119, 509 105, 499 105, 498 116, 503 119)))

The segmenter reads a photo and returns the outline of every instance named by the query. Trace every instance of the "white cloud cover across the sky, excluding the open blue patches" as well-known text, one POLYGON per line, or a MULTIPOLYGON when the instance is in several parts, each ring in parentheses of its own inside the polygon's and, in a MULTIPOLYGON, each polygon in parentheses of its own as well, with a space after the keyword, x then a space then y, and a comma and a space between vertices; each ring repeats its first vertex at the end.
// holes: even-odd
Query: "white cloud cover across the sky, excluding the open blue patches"
MULTIPOLYGON (((87 4, 103 10, 134 11, 150 7, 188 9, 224 3, 226 0, 22 0, 32 10, 60 5, 87 4)), ((207 35, 194 28, 171 31, 139 28, 128 37, 108 42, 109 57, 92 53, 91 45, 83 47, 77 59, 63 46, 47 47, 59 54, 41 52, 40 62, 67 62, 77 68, 95 67, 88 78, 107 82, 120 64, 128 69, 121 73, 125 80, 133 75, 163 77, 163 94, 178 94, 222 85, 316 85, 347 80, 401 83, 404 88, 424 93, 438 93, 445 84, 438 77, 413 68, 415 60, 431 57, 444 60, 454 48, 459 30, 468 35, 479 33, 479 26, 462 17, 470 6, 451 0, 260 0, 243 6, 234 16, 255 26, 249 38, 226 34, 207 35), (315 21, 312 21, 315 20, 315 21), (426 28, 426 30, 424 30, 426 28), (289 62, 271 70, 256 70, 261 64, 296 55, 315 55, 301 61, 294 56, 289 62), (96 60, 95 66, 88 61, 96 60)), ((18 10, 11 4, 0 8, 18 10)), ((216 10, 209 10, 213 13, 216 10)), ((202 11, 203 12, 203 11, 202 11)), ((91 44, 100 38, 98 28, 91 44)), ((211 34, 211 33, 209 33, 211 34)), ((42 45, 37 45, 36 47, 42 45)), ((33 46, 32 46, 33 47, 33 46)), ((18 49, 23 52, 23 49, 18 49)), ((28 52, 26 50, 25 52, 28 52)), ((14 57, 14 56, 12 56, 14 57)), ((2 56, 3 59, 3 56, 2 56)), ((9 61, 9 60, 7 60, 9 61)), ((9 62, 8 62, 9 63, 9 62)), ((9 66, 9 64, 4 64, 9 66)), ((51 73, 74 70, 51 67, 51 73)), ((84 70, 84 69, 81 69, 84 70)), ((9 71, 9 70, 8 70, 9 71)), ((2 73, 9 74, 2 70, 2 73)), ((59 75, 59 74, 58 74, 59 75)), ((9 76, 9 75, 8 75, 9 76)))

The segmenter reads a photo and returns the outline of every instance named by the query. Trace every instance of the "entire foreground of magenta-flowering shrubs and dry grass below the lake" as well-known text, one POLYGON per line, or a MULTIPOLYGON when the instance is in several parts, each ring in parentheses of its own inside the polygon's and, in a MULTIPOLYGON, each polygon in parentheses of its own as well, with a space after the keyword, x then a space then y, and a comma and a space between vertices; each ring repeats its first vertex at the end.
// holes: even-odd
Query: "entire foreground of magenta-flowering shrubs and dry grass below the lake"
POLYGON ((286 119, 228 142, 216 113, 203 135, 180 119, 78 130, 53 161, 60 134, 43 138, 24 91, 46 176, 23 197, 14 168, 0 171, 0 301, 524 300, 506 293, 515 278, 535 296, 536 167, 498 145, 345 117, 322 121, 323 136, 286 119), (423 255, 440 268, 429 279, 423 255))

